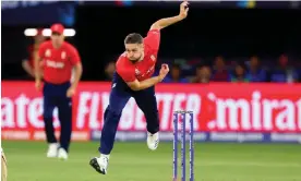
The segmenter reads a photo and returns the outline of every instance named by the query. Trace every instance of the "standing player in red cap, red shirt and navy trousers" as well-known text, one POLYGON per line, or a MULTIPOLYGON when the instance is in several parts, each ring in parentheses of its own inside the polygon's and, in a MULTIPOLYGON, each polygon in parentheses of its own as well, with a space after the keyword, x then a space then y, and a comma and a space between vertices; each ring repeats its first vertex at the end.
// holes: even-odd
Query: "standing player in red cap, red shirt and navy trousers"
POLYGON ((44 121, 47 142, 47 157, 68 159, 72 132, 72 100, 82 76, 82 63, 76 48, 64 41, 64 27, 61 24, 51 26, 51 39, 43 43, 35 60, 36 88, 41 89, 40 69, 44 73, 44 121), (40 63, 40 61, 43 63, 40 63), (43 65, 40 65, 43 64, 43 65), (71 74, 74 69, 74 80, 71 74), (59 110, 61 125, 60 143, 55 136, 52 124, 53 109, 59 110))

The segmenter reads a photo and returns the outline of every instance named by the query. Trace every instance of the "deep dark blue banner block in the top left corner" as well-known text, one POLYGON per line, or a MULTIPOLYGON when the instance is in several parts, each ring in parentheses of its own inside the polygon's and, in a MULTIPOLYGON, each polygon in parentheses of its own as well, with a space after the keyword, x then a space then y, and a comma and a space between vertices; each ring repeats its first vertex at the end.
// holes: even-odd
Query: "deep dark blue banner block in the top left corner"
POLYGON ((56 22, 72 26, 75 1, 1 1, 3 25, 48 25, 56 22))

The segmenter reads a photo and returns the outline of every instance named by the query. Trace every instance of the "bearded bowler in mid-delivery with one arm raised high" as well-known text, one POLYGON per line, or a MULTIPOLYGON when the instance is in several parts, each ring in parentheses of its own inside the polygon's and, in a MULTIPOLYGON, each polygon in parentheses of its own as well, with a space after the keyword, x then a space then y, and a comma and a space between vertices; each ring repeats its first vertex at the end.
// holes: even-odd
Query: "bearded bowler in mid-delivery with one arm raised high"
POLYGON ((133 33, 125 37, 125 52, 117 63, 112 80, 109 106, 105 111, 101 131, 100 157, 95 157, 89 165, 99 173, 106 174, 109 155, 112 150, 121 112, 128 100, 133 97, 144 112, 147 129, 147 146, 155 150, 159 143, 159 116, 155 96, 155 84, 161 82, 169 68, 162 64, 159 75, 153 76, 160 44, 160 29, 182 21, 188 15, 188 2, 180 5, 180 14, 155 22, 147 36, 143 38, 133 33))

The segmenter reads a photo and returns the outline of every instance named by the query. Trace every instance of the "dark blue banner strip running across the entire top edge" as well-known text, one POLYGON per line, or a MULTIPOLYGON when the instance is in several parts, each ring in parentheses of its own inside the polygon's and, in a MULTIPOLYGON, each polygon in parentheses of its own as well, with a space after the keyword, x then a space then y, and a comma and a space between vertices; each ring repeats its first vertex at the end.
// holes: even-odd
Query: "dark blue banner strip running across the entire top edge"
MULTIPOLYGON (((230 9, 299 9, 299 1, 195 1, 193 8, 230 8, 230 9)), ((110 5, 110 7, 172 7, 179 5, 179 1, 1 1, 3 25, 48 25, 61 22, 72 26, 75 22, 77 5, 110 5)))

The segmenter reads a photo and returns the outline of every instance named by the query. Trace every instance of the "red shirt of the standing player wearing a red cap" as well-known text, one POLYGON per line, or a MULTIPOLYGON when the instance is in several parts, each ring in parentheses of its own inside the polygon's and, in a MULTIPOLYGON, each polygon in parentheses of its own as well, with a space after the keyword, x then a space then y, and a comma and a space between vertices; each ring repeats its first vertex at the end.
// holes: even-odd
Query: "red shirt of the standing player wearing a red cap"
POLYGON ((56 49, 47 40, 39 46, 38 55, 43 59, 44 80, 52 84, 70 82, 73 67, 81 62, 76 48, 65 41, 56 49))

